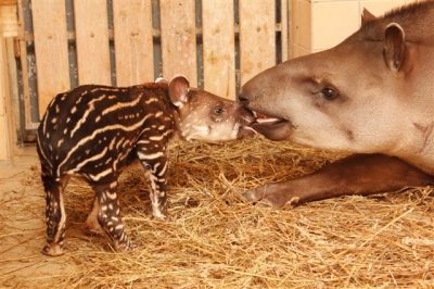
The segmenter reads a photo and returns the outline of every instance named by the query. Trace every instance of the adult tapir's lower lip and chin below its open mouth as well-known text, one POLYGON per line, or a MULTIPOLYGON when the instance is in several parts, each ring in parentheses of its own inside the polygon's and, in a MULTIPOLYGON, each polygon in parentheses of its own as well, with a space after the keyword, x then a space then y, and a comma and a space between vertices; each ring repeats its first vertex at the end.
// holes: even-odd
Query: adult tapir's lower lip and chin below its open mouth
POLYGON ((286 140, 292 135, 294 126, 282 118, 257 118, 252 128, 271 140, 286 140))

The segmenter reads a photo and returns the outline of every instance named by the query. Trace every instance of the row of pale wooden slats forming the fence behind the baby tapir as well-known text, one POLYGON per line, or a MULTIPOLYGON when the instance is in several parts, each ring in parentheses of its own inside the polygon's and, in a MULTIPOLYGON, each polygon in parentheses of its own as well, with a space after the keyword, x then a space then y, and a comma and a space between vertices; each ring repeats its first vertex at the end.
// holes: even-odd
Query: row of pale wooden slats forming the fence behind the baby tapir
MULTIPOLYGON (((285 1, 282 0, 282 7, 286 9, 285 1)), ((196 2, 112 0, 113 7, 107 8, 106 0, 74 0, 75 32, 71 33, 66 30, 65 1, 31 1, 40 117, 56 93, 71 88, 68 39, 76 41, 79 85, 112 83, 110 39, 115 47, 116 85, 152 81, 156 37, 161 39, 164 77, 181 73, 191 86, 197 86, 201 72, 205 89, 235 99, 237 79, 242 85, 276 64, 276 32, 283 30, 276 24, 276 0, 206 0, 200 1, 200 11, 196 2), (155 4, 159 15, 152 15, 155 4), (113 30, 107 24, 110 9, 113 30), (202 15, 199 26, 196 13, 202 15), (153 27, 155 16, 159 16, 161 27, 153 27), (202 40, 201 46, 197 39, 202 40), (199 47, 202 51, 197 51, 199 47), (201 67, 197 55, 202 58, 201 67), (239 72, 235 72, 237 58, 239 72)), ((288 11, 282 11, 282 15, 288 15, 288 11)))

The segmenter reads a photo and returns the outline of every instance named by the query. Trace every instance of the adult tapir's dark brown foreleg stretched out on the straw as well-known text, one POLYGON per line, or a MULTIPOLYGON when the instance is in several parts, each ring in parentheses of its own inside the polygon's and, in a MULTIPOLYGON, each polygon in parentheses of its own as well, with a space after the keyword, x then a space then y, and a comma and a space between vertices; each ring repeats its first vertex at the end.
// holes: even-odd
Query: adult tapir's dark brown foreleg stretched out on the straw
POLYGON ((250 202, 273 208, 302 204, 345 194, 371 194, 434 184, 434 176, 384 154, 355 154, 321 169, 243 193, 250 202))

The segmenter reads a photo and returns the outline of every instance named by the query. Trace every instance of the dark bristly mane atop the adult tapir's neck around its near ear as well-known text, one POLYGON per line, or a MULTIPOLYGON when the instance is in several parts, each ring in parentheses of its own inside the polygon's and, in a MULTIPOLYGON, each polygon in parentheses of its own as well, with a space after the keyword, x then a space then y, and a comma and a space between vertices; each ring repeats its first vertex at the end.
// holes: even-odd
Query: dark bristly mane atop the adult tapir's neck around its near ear
POLYGON ((381 41, 390 23, 398 23, 405 30, 406 40, 434 45, 434 1, 416 2, 394 9, 376 20, 366 23, 352 37, 358 40, 381 41))

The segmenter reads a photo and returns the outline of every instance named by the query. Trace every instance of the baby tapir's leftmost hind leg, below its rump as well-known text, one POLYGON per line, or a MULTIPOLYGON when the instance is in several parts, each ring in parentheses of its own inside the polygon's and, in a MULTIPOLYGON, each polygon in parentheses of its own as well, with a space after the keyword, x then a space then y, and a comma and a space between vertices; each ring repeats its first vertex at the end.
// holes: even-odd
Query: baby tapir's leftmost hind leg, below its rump
POLYGON ((60 180, 54 179, 50 174, 43 173, 42 183, 46 191, 46 222, 47 222, 47 246, 42 253, 47 255, 63 254, 63 239, 65 237, 66 213, 63 203, 63 190, 69 180, 63 176, 60 180))

